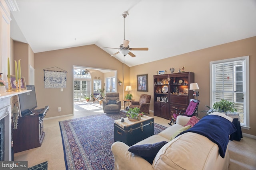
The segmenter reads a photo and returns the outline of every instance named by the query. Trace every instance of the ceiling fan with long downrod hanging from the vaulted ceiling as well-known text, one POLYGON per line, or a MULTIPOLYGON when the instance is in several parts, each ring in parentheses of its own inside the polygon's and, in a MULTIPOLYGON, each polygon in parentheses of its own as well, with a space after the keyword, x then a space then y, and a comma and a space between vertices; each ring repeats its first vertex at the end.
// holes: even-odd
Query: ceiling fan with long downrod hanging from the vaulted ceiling
MULTIPOLYGON (((124 20, 125 20, 125 18, 127 17, 127 15, 129 15, 128 12, 124 12, 124 13, 122 14, 122 17, 124 18, 124 20)), ((124 55, 124 56, 126 56, 126 55, 128 54, 128 55, 130 55, 130 56, 132 56, 132 57, 136 57, 136 55, 134 55, 134 54, 133 54, 132 52, 130 52, 130 51, 132 51, 132 50, 134 50, 134 51, 136 51, 136 50, 137 50, 137 51, 148 51, 148 48, 130 48, 129 42, 130 42, 130 41, 128 41, 128 40, 125 39, 125 22, 124 22, 124 43, 120 45, 120 48, 110 48, 110 47, 101 47, 101 48, 119 49, 119 50, 120 50, 120 51, 118 51, 118 52, 116 52, 116 53, 114 53, 114 54, 112 54, 112 55, 110 55, 110 56, 114 56, 114 55, 117 55, 118 53, 121 53, 121 54, 124 55)))

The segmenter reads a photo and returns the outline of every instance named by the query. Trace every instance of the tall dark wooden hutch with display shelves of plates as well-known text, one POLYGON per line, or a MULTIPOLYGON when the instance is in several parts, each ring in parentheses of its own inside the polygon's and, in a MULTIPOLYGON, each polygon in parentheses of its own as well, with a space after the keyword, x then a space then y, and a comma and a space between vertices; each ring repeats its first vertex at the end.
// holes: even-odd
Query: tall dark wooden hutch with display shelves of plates
POLYGON ((154 76, 154 115, 170 119, 175 108, 186 111, 189 100, 194 98, 194 72, 181 72, 154 76))

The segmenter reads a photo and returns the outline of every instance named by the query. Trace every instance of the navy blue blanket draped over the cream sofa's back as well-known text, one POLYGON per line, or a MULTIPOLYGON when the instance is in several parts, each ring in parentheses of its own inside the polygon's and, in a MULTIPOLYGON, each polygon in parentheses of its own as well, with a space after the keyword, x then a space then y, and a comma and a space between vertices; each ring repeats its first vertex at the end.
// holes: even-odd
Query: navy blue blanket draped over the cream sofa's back
POLYGON ((228 147, 229 135, 235 131, 236 127, 228 119, 218 115, 206 115, 192 128, 183 131, 179 135, 186 132, 193 132, 207 137, 218 145, 219 154, 224 158, 228 147))

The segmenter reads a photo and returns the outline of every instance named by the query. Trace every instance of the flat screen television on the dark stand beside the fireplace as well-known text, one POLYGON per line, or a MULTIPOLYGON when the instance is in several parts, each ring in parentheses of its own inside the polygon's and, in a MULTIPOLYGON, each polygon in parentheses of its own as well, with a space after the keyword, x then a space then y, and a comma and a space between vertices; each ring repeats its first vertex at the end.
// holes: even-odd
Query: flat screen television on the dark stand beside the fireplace
POLYGON ((25 116, 32 113, 32 110, 37 107, 36 90, 34 85, 27 85, 27 90, 30 92, 18 94, 20 116, 25 116))

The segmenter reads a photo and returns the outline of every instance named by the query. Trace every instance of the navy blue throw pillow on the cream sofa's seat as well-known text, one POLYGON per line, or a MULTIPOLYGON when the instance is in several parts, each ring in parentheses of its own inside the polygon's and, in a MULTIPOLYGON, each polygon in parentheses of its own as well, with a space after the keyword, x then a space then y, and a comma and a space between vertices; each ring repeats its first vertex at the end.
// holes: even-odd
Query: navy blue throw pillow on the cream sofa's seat
POLYGON ((162 141, 154 144, 134 145, 128 151, 147 160, 150 164, 153 163, 157 152, 168 142, 162 141))

